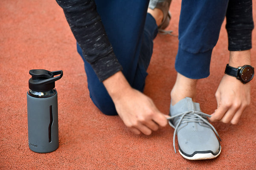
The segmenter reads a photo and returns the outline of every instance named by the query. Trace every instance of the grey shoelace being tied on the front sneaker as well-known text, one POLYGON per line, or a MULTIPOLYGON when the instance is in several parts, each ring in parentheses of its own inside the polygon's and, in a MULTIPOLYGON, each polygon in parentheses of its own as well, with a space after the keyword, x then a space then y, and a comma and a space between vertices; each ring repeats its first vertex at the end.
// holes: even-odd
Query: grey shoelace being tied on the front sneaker
POLYGON ((186 122, 198 122, 198 123, 201 122, 201 123, 205 123, 205 124, 209 125, 212 128, 214 133, 218 136, 218 139, 221 141, 221 138, 218 135, 217 130, 206 120, 206 118, 202 117, 202 116, 206 116, 206 117, 210 118, 210 117, 212 117, 211 115, 205 114, 205 113, 203 113, 201 111, 186 111, 186 112, 177 114, 175 116, 171 116, 171 117, 169 117, 167 119, 171 120, 171 119, 174 119, 174 118, 176 118, 178 116, 180 116, 180 120, 177 123, 176 127, 174 125, 172 125, 172 123, 169 121, 169 125, 175 129, 174 130, 174 134, 173 134, 173 147, 174 147, 175 153, 176 153, 176 149, 175 149, 175 136, 176 136, 176 133, 177 133, 177 129, 180 126, 181 123, 186 123, 186 122))

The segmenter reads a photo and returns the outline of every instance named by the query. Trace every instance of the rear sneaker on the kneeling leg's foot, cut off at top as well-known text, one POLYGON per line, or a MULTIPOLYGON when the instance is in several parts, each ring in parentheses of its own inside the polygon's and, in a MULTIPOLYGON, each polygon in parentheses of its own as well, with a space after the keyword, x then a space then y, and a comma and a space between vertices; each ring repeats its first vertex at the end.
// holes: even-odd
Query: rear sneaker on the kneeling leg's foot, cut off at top
POLYGON ((170 4, 172 0, 150 0, 148 8, 154 9, 158 8, 161 11, 163 11, 163 21, 158 26, 159 30, 164 30, 168 25, 171 20, 171 13, 169 11, 170 4))

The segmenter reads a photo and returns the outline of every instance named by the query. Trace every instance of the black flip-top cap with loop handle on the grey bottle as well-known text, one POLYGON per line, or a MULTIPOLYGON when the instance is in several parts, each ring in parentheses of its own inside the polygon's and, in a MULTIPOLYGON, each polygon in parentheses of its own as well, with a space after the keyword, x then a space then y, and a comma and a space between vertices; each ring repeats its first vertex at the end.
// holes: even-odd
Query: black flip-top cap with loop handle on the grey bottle
POLYGON ((47 71, 43 69, 30 70, 29 74, 32 78, 29 79, 29 89, 32 91, 45 92, 55 88, 55 81, 61 79, 63 71, 47 71), (58 75, 54 77, 55 75, 58 75))

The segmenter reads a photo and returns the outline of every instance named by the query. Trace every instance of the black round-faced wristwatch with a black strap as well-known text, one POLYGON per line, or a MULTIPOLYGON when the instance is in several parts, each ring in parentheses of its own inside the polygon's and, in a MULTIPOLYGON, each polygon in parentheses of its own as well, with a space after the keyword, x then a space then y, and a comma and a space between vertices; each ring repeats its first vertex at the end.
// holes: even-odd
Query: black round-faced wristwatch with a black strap
POLYGON ((254 68, 250 65, 244 65, 238 68, 234 68, 227 64, 225 74, 236 77, 245 84, 253 79, 254 68))

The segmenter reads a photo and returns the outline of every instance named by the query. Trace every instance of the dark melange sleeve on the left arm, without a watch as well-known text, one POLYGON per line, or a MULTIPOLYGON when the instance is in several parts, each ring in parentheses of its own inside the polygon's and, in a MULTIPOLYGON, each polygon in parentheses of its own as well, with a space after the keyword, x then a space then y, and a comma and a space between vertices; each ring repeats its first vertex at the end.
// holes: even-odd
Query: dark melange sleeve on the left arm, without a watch
POLYGON ((83 56, 90 63, 99 81, 122 70, 108 40, 94 0, 56 0, 63 8, 67 22, 83 56))

